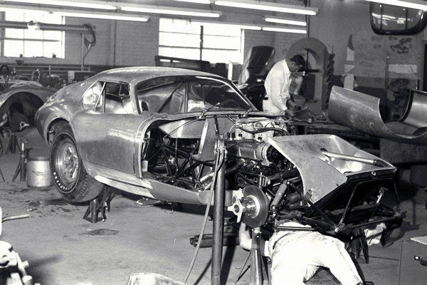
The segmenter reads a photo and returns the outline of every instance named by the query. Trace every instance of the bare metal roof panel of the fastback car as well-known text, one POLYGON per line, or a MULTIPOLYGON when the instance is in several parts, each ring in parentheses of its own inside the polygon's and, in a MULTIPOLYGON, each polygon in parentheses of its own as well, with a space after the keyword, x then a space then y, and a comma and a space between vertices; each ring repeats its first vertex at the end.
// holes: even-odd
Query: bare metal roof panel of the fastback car
POLYGON ((172 67, 150 67, 150 66, 139 66, 139 67, 126 67, 126 68, 114 68, 107 71, 97 73, 94 78, 105 78, 115 81, 124 82, 140 82, 150 78, 157 78, 162 76, 216 76, 211 73, 202 71, 192 71, 183 68, 172 68, 172 67))

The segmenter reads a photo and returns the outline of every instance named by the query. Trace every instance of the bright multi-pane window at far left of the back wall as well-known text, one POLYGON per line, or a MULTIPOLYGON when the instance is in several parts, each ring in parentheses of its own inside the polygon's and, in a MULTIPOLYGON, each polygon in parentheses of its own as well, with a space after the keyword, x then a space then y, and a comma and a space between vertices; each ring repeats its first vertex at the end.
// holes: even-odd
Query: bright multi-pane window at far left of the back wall
MULTIPOLYGON (((6 11, 6 21, 64 24, 63 17, 39 11, 6 11)), ((64 58, 64 32, 41 31, 36 28, 4 28, 1 56, 64 58)))

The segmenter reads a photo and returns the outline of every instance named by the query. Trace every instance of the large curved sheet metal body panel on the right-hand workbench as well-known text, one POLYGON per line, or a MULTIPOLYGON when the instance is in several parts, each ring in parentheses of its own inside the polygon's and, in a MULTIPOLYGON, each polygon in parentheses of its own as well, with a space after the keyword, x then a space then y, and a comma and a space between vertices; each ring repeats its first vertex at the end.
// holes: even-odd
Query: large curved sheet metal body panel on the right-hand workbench
POLYGON ((427 96, 413 93, 411 105, 398 123, 401 129, 415 129, 411 134, 395 133, 387 127, 379 113, 379 98, 354 90, 332 87, 328 115, 339 125, 375 135, 379 138, 405 142, 415 145, 427 145, 427 117, 422 110, 427 108, 427 96), (422 113, 421 113, 422 111, 422 113), (420 131, 421 130, 421 131, 420 131))

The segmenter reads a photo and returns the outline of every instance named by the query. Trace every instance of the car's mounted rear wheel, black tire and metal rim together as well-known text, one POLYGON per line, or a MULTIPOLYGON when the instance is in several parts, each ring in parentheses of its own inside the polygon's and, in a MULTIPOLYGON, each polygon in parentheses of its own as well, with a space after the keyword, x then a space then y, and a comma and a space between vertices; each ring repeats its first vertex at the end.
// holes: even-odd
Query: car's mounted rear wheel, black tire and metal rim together
POLYGON ((58 130, 53 138, 50 167, 53 183, 67 202, 95 199, 104 187, 86 172, 70 125, 58 130))

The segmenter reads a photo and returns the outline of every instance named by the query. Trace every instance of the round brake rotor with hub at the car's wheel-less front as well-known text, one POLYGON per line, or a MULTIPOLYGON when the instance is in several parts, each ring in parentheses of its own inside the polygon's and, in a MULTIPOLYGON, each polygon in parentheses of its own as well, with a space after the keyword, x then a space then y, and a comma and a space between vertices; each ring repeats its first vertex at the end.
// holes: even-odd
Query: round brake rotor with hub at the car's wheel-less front
POLYGON ((243 188, 243 199, 245 211, 242 220, 249 227, 260 227, 268 218, 268 204, 270 201, 258 186, 246 186, 243 188))

